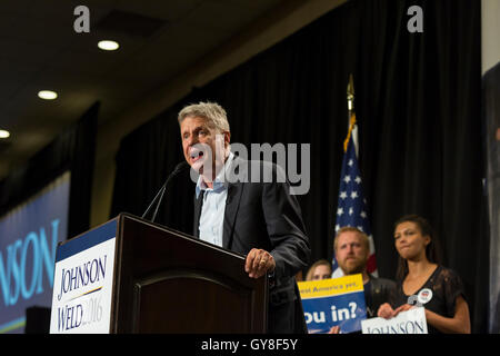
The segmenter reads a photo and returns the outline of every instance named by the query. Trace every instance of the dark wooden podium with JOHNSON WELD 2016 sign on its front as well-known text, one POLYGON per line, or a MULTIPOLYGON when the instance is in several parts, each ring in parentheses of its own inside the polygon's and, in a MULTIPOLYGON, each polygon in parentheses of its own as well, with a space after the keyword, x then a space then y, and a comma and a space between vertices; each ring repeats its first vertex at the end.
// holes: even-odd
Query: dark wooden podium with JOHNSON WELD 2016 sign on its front
POLYGON ((249 278, 244 256, 128 214, 58 247, 52 300, 51 333, 267 330, 267 277, 249 278))

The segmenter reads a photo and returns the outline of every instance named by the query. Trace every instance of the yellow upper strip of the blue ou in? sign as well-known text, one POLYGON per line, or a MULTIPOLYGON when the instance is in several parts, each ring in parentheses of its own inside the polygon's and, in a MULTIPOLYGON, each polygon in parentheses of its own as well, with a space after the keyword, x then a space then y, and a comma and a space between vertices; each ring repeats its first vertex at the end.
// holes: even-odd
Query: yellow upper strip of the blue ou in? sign
POLYGON ((302 299, 320 298, 363 291, 363 278, 361 274, 358 274, 332 279, 299 281, 298 286, 302 299))

